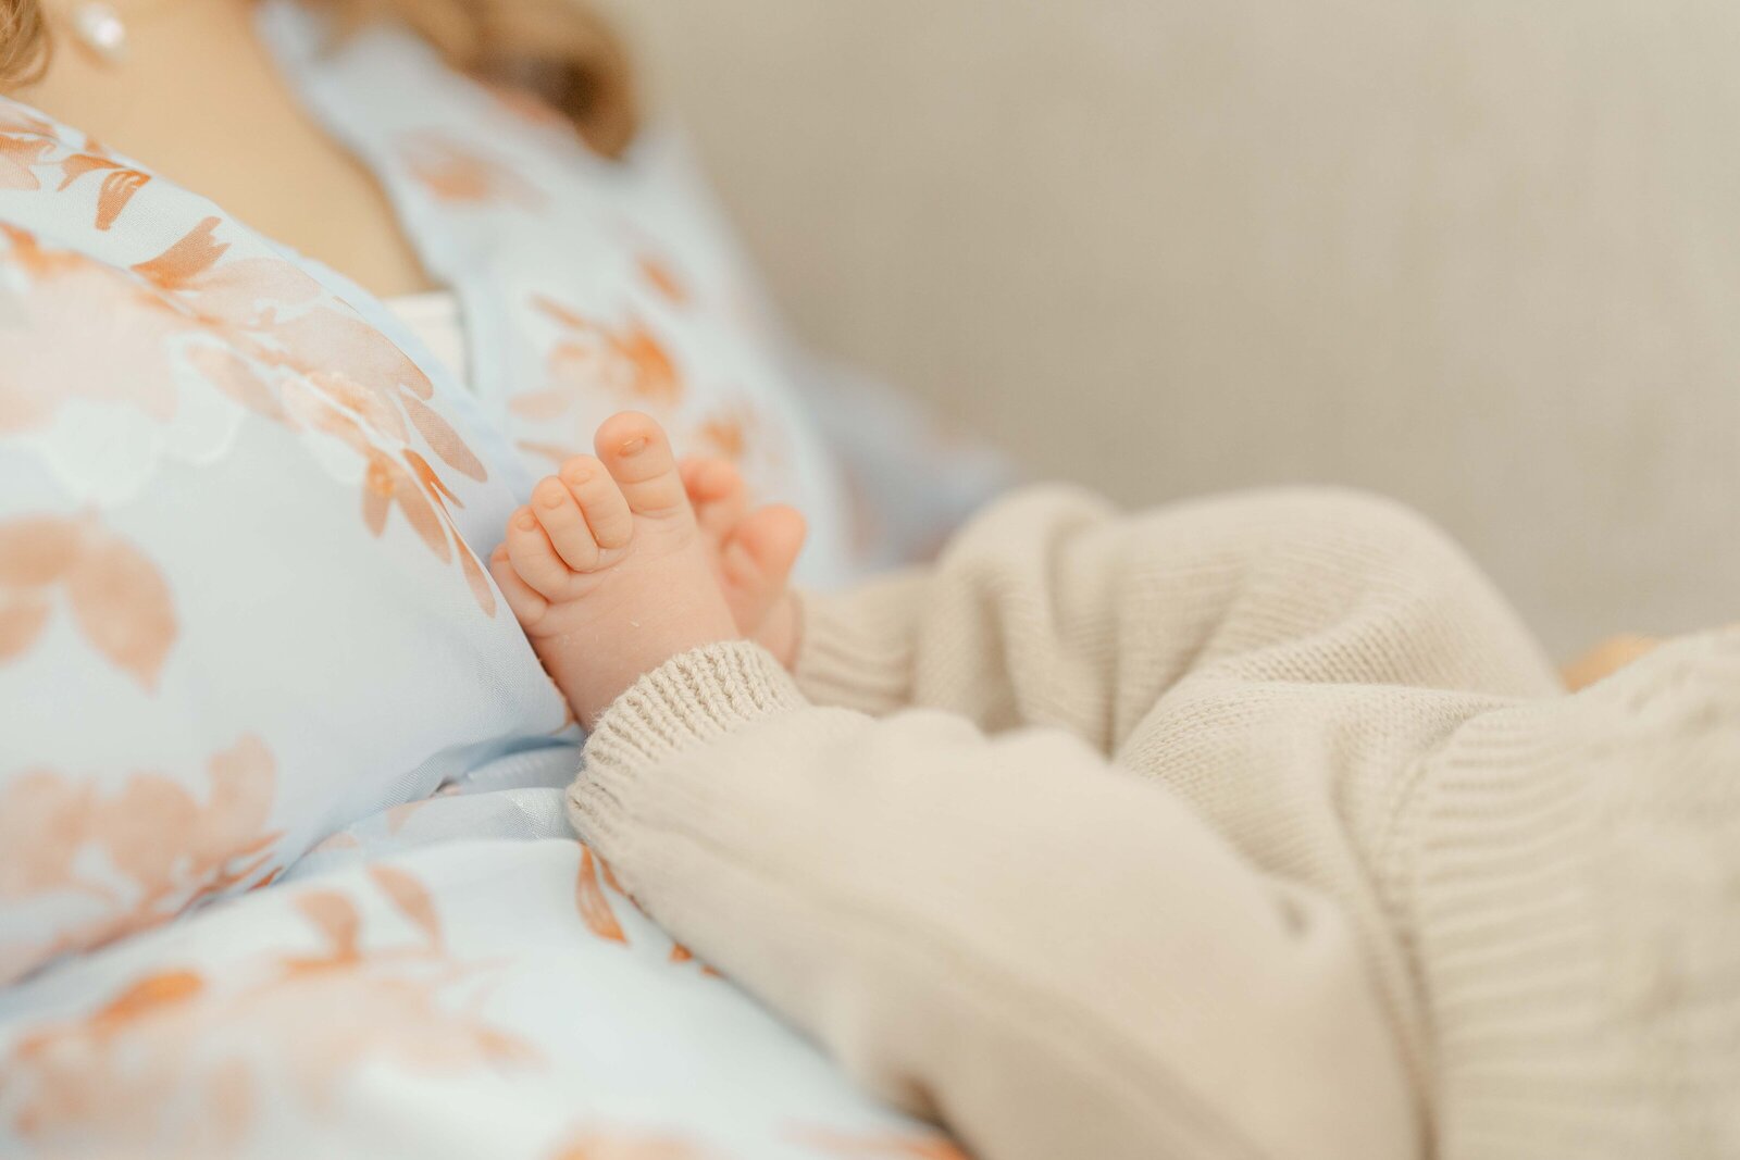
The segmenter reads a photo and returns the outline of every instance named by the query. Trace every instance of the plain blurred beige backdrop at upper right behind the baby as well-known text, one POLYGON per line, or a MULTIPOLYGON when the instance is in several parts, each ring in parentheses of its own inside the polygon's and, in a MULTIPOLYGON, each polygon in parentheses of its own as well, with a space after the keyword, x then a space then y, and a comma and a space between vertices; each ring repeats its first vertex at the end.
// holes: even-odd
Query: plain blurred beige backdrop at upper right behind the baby
POLYGON ((1740 3, 614 0, 797 332, 1128 501, 1740 619, 1740 3))

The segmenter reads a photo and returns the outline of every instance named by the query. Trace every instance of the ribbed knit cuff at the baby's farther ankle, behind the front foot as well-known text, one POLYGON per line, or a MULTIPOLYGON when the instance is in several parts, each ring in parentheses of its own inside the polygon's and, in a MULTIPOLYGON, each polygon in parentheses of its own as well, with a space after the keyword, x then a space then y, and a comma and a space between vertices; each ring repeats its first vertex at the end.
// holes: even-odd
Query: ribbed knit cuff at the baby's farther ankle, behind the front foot
POLYGON ((797 687, 816 704, 880 717, 912 703, 926 574, 894 572, 847 593, 804 593, 797 687))

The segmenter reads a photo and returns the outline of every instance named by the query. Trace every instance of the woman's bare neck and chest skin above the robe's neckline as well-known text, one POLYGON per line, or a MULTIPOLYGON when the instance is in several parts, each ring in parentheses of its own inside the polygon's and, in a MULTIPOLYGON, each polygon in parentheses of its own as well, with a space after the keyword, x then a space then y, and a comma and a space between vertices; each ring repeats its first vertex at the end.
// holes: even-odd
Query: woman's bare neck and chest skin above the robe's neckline
POLYGON ((209 197, 244 224, 390 297, 433 289, 385 191, 301 108, 254 35, 249 0, 115 0, 120 64, 45 0, 54 54, 7 96, 209 197))

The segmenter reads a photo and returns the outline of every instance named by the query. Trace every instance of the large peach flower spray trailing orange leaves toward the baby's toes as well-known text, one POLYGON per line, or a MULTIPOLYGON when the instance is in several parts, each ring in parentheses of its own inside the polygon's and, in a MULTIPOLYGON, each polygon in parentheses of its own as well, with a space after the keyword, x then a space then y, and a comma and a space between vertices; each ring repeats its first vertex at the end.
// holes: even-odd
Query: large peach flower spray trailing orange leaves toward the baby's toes
POLYGON ((223 261, 230 245, 218 240, 219 226, 205 217, 137 263, 132 270, 146 285, 7 230, 7 259, 33 285, 21 296, 26 325, 0 329, 0 365, 30 370, 0 379, 0 431, 47 424, 70 391, 129 402, 169 421, 181 339, 186 362, 218 391, 261 417, 351 447, 365 464, 365 527, 383 536, 397 510, 440 562, 458 558, 477 605, 494 616, 494 590, 452 522, 463 503, 411 447, 416 433, 447 470, 478 482, 489 477, 432 405, 433 384, 294 264, 223 261), (103 334, 90 332, 92 320, 103 334), (120 365, 127 374, 115 372, 120 365))

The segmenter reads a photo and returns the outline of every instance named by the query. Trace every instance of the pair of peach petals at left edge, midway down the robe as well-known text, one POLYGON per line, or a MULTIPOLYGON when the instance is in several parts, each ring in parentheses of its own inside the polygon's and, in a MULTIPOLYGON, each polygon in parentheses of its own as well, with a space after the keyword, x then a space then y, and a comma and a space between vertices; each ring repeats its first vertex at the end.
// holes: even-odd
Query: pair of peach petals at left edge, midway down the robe
POLYGON ((35 643, 57 593, 85 640, 153 692, 177 630, 157 565, 92 515, 0 522, 0 664, 35 643))

